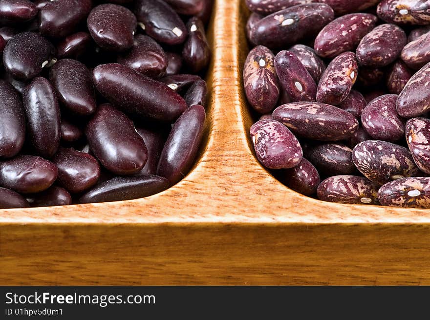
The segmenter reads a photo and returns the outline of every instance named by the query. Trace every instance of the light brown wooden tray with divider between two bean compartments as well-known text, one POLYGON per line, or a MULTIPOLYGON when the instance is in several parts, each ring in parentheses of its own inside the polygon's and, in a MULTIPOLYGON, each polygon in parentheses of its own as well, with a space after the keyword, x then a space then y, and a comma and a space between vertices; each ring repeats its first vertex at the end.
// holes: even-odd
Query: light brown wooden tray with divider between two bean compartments
POLYGON ((215 3, 194 170, 145 199, 0 211, 1 285, 430 284, 430 211, 321 202, 258 164, 242 2, 215 3))

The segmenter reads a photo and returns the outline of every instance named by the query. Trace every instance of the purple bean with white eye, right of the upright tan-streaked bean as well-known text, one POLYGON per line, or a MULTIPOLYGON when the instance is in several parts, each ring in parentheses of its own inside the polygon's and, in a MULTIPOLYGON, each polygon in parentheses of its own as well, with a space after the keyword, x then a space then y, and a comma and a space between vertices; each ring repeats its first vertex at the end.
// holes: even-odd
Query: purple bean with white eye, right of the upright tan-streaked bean
POLYGON ((275 57, 274 64, 280 85, 292 102, 315 101, 317 85, 294 53, 280 51, 275 57))

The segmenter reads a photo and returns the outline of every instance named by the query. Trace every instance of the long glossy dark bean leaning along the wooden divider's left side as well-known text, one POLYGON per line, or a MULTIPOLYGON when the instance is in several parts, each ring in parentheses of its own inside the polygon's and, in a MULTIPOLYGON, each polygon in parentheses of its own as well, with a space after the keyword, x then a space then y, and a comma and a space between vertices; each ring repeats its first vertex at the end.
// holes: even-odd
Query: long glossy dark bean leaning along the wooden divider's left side
POLYGON ((167 178, 170 185, 190 171, 203 136, 205 117, 205 109, 195 105, 176 120, 157 167, 157 174, 167 178))

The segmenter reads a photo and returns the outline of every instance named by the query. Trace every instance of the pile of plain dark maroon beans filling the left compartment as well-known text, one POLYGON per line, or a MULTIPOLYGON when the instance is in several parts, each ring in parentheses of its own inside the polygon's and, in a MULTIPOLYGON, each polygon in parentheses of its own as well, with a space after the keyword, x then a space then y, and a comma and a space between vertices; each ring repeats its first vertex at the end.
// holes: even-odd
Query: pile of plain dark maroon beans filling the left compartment
POLYGON ((0 209, 181 180, 203 135, 212 2, 1 0, 0 209))

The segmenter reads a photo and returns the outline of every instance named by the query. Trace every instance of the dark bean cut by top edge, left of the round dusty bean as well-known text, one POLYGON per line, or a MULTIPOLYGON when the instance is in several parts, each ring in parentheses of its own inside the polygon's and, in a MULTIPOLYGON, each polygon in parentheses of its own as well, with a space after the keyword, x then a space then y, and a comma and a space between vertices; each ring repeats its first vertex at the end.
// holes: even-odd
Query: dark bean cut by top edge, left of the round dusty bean
POLYGON ((85 21, 91 6, 91 0, 50 1, 39 12, 39 30, 47 37, 68 36, 85 21))

